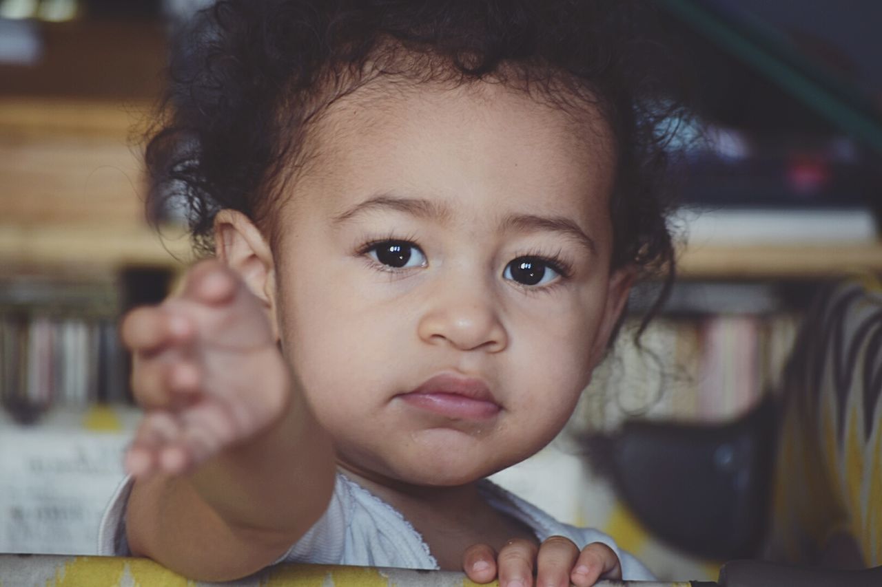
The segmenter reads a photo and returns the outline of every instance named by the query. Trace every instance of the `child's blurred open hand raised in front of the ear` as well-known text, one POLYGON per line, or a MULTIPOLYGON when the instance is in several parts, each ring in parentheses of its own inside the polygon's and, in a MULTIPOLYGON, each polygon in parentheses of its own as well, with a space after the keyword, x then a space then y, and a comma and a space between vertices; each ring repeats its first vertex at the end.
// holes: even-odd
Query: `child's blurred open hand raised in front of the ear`
POLYGON ((136 477, 183 473, 258 435, 288 405, 291 376, 258 298, 217 261, 181 294, 123 321, 132 389, 146 410, 126 453, 136 477))

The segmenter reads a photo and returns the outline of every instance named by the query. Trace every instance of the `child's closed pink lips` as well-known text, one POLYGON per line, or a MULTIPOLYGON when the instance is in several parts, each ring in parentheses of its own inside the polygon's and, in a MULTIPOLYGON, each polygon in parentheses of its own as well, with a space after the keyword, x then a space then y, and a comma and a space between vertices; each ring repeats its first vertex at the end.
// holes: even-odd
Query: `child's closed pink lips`
POLYGON ((502 406, 480 379, 456 375, 435 375, 399 398, 418 410, 454 420, 490 420, 502 406))

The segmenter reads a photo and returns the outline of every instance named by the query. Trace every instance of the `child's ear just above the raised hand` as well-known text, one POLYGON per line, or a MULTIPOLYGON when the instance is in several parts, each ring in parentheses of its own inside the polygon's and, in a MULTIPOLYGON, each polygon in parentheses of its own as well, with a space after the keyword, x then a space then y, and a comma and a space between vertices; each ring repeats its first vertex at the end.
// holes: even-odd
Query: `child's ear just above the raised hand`
POLYGON ((239 274, 245 286, 263 304, 273 336, 278 340, 273 249, 264 235, 242 212, 221 210, 214 217, 214 253, 239 274))

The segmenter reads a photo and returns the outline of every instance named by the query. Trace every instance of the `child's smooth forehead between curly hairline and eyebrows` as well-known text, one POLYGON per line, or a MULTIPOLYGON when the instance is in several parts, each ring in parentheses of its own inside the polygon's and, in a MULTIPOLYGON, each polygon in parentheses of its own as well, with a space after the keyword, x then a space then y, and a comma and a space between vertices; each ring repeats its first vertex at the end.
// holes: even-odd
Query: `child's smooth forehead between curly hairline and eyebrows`
POLYGON ((498 83, 378 80, 317 119, 292 191, 329 212, 350 198, 400 191, 595 217, 608 209, 612 140, 597 109, 580 106, 559 108, 498 83))

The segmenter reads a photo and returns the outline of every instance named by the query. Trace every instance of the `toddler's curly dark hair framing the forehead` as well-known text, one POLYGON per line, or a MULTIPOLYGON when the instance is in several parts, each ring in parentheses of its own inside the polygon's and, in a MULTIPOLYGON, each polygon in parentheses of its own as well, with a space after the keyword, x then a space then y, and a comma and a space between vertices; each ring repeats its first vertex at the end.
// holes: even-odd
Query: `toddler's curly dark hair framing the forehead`
POLYGON ((204 254, 224 208, 272 233, 273 194, 303 162, 310 121, 384 76, 492 80, 564 108, 588 100, 615 143, 612 267, 663 278, 645 327, 674 276, 666 121, 684 115, 653 17, 635 0, 221 0, 172 61, 146 150, 149 199, 183 201, 204 254))

